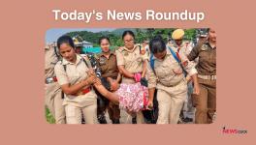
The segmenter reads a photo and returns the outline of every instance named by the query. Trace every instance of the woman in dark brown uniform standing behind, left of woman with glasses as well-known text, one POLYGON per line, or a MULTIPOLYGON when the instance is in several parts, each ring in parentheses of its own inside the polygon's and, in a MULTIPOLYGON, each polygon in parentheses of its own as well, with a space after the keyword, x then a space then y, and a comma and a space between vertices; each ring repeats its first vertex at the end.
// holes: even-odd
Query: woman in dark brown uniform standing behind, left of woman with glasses
MULTIPOLYGON (((102 53, 98 55, 98 64, 101 69, 102 77, 105 80, 103 84, 109 91, 116 91, 118 87, 118 83, 121 80, 121 75, 117 68, 117 61, 115 53, 110 49, 110 39, 108 37, 101 37, 99 40, 99 44, 102 49, 102 53), (109 87, 109 88, 108 88, 109 87)), ((120 109, 117 104, 110 102, 108 105, 108 112, 110 115, 110 119, 112 120, 112 124, 120 124, 120 109)))

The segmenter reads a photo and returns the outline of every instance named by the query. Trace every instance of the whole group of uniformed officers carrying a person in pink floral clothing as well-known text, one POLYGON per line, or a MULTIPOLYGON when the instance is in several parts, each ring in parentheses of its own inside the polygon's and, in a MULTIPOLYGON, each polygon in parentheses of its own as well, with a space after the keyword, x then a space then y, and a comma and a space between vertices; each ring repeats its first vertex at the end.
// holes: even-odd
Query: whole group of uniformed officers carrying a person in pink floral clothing
POLYGON ((61 36, 45 48, 45 103, 55 123, 107 124, 106 114, 112 124, 212 123, 216 33, 207 31, 192 45, 183 29, 172 41, 158 35, 144 43, 127 30, 113 50, 108 37, 99 38, 99 54, 81 54, 76 38, 61 36))

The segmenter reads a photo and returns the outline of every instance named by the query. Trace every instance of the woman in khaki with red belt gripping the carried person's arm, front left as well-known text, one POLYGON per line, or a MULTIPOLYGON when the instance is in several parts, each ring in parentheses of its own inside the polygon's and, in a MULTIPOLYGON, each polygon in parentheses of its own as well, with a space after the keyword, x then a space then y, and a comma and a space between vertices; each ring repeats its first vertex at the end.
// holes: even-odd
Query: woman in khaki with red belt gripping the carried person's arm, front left
POLYGON ((96 76, 91 75, 90 62, 76 54, 75 44, 69 36, 60 37, 57 46, 63 59, 56 64, 54 71, 65 93, 63 105, 67 124, 81 124, 82 116, 86 124, 96 124, 97 96, 91 87, 96 76))

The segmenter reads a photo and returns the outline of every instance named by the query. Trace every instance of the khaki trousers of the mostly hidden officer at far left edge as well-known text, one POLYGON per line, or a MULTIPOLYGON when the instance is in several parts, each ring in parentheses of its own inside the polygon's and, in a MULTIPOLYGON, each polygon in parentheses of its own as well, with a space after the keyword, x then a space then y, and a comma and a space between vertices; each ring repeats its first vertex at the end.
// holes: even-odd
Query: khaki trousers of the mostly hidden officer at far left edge
POLYGON ((46 99, 45 103, 55 118, 56 124, 65 124, 65 109, 62 105, 61 89, 56 82, 46 84, 46 99))

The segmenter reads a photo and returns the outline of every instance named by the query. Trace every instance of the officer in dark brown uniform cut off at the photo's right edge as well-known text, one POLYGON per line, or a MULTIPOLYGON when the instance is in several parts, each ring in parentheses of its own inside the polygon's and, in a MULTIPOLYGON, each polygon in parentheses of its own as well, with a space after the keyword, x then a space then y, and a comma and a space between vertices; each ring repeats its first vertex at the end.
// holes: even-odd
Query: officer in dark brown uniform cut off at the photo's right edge
POLYGON ((196 105, 196 124, 212 123, 216 111, 216 33, 208 29, 208 41, 197 44, 188 55, 189 60, 199 57, 196 67, 200 84, 200 95, 193 100, 196 105))

